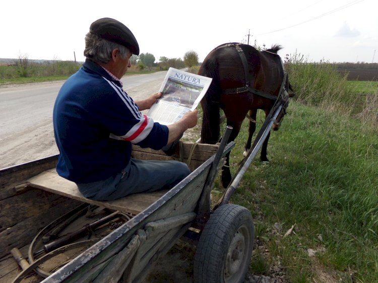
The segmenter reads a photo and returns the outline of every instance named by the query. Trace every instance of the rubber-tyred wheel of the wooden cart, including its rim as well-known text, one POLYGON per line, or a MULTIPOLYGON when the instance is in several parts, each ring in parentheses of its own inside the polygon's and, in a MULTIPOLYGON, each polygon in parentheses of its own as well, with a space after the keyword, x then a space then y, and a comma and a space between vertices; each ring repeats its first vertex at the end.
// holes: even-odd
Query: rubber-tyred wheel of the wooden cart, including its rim
POLYGON ((218 207, 197 245, 195 282, 243 282, 253 247, 254 223, 249 210, 235 204, 218 207))

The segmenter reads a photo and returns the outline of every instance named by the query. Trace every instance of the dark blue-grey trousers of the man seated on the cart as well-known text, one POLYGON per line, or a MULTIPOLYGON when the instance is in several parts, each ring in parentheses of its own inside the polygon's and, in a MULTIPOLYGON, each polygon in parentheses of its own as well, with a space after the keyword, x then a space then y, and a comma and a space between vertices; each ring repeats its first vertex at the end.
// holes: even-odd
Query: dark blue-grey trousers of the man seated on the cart
POLYGON ((139 192, 170 189, 191 173, 179 161, 139 160, 132 158, 115 176, 86 184, 77 184, 79 191, 94 200, 114 200, 139 192))

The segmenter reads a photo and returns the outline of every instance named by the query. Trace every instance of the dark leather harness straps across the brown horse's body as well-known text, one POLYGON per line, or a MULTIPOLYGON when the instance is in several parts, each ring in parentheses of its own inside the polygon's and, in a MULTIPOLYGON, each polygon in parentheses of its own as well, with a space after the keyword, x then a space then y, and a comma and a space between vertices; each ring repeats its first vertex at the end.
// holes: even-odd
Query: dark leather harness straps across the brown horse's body
POLYGON ((284 71, 284 78, 282 80, 281 89, 280 89, 278 96, 257 90, 255 88, 249 86, 249 82, 251 81, 251 76, 250 76, 250 73, 248 71, 249 68, 248 68, 247 59, 245 57, 243 50, 239 46, 240 44, 241 43, 229 43, 229 44, 224 44, 224 45, 221 45, 221 46, 218 47, 218 48, 221 48, 221 47, 234 46, 236 48, 236 50, 237 50, 237 52, 240 56, 241 62, 243 63, 244 77, 245 77, 245 86, 244 87, 233 88, 233 89, 225 89, 225 90, 223 90, 223 94, 235 94, 235 93, 242 93, 242 92, 250 92, 250 93, 259 95, 261 97, 268 98, 270 100, 275 100, 277 102, 279 100, 282 92, 285 90, 285 83, 286 83, 286 77, 287 77, 286 72, 284 71))

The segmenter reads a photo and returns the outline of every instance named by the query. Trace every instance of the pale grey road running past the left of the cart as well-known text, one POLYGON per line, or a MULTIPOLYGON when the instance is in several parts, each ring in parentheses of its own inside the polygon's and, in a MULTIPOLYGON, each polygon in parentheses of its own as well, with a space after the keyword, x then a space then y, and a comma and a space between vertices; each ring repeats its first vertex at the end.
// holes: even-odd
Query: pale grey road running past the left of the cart
MULTIPOLYGON (((125 76, 123 89, 144 99, 158 92, 166 73, 125 76)), ((63 83, 0 86, 0 169, 58 153, 52 108, 63 83)))

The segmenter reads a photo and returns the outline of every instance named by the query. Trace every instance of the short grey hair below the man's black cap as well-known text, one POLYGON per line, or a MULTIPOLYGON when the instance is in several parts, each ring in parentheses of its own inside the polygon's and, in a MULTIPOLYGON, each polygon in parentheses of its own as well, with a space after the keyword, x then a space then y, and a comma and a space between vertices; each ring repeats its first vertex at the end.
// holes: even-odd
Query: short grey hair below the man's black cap
POLYGON ((85 36, 84 56, 98 63, 108 63, 111 59, 111 53, 114 49, 119 49, 120 56, 125 59, 130 50, 118 43, 103 39, 93 33, 87 33, 85 36))

